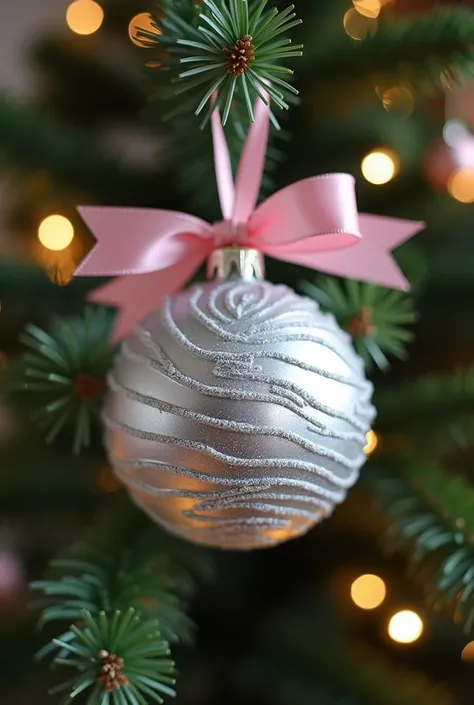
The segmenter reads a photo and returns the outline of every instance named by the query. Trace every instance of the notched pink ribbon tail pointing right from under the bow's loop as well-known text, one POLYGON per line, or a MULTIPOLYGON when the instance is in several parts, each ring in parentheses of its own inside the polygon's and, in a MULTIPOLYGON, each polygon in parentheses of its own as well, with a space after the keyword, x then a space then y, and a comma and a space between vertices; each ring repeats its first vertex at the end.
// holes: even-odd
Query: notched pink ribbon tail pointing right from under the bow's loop
POLYGON ((300 243, 266 247, 271 257, 348 279, 407 291, 409 283, 391 251, 423 229, 424 223, 384 216, 361 215, 361 240, 348 250, 308 252, 300 243))

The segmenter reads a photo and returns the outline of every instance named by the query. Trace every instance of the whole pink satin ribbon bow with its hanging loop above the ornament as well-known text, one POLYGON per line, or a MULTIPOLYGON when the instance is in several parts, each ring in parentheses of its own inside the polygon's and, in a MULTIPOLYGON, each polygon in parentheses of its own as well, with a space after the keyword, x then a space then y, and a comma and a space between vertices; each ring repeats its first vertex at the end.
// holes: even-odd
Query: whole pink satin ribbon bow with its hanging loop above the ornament
POLYGON ((390 252, 423 223, 359 215, 352 176, 304 179, 255 207, 268 130, 268 106, 259 101, 234 187, 224 130, 214 111, 212 136, 222 221, 210 224, 167 210, 78 209, 97 244, 76 274, 120 275, 90 296, 92 301, 120 309, 116 338, 181 289, 216 247, 243 245, 330 274, 408 288, 390 252))

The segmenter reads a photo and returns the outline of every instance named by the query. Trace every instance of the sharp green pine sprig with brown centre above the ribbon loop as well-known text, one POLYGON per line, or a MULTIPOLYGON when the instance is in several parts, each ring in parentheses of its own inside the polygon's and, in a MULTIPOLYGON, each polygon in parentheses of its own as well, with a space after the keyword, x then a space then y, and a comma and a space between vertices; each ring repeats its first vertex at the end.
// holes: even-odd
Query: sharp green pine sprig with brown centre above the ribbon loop
MULTIPOLYGON (((148 38, 165 45, 163 61, 177 71, 176 92, 184 95, 178 114, 192 109, 200 115, 207 108, 204 125, 219 106, 225 125, 234 102, 245 105, 252 122, 256 98, 288 109, 288 96, 298 91, 282 78, 291 77, 293 71, 280 61, 301 56, 302 45, 292 45, 282 35, 301 20, 293 12, 294 5, 282 12, 267 11, 267 2, 203 0, 197 27, 166 6, 166 17, 157 22, 158 32, 148 38)), ((278 125, 273 114, 272 120, 278 125)))

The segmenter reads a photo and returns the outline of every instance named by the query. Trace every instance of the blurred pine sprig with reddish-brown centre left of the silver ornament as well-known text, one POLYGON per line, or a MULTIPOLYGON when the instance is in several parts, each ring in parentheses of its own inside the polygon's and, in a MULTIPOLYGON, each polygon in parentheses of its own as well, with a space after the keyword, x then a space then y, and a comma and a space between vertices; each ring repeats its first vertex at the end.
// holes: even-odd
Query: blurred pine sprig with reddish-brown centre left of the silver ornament
POLYGON ((89 445, 115 352, 109 343, 111 326, 106 309, 57 319, 50 333, 26 326, 20 340, 30 351, 22 357, 18 387, 37 398, 33 418, 45 430, 47 443, 70 424, 74 452, 89 445))

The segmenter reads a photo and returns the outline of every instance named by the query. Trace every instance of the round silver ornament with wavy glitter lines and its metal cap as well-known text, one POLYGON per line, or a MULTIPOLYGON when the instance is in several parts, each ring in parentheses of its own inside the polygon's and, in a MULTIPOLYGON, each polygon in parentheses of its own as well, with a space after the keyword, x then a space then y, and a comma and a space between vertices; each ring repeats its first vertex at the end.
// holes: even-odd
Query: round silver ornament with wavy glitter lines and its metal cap
POLYGON ((372 385, 331 315, 218 250, 214 281, 167 299, 124 341, 104 410, 135 502, 169 531, 263 548, 329 516, 357 480, 372 385))

